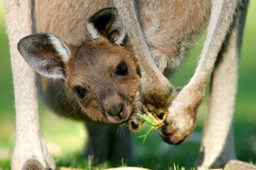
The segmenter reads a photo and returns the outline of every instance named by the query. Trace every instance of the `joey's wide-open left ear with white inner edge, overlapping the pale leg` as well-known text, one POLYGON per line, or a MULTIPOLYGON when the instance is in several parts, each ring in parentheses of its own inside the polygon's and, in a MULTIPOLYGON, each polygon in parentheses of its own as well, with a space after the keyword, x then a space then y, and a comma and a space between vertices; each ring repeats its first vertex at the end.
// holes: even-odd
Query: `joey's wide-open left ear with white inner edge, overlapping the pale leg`
POLYGON ((71 56, 68 46, 56 35, 38 33, 20 39, 18 50, 36 72, 51 78, 65 79, 71 56))

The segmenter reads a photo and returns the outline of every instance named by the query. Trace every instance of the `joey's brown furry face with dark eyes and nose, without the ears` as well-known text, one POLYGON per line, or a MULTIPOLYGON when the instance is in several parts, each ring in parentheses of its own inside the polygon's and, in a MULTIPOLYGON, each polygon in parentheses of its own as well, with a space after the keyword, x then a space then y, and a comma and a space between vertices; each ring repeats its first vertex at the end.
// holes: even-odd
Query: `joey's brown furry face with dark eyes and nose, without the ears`
POLYGON ((140 112, 137 60, 124 47, 83 43, 72 50, 65 84, 92 119, 123 124, 140 112))

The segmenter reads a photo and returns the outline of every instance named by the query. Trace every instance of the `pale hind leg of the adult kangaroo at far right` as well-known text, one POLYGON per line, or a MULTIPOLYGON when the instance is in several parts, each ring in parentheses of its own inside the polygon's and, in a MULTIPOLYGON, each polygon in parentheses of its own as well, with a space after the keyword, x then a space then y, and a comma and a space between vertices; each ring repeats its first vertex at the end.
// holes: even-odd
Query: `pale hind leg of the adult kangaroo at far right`
MULTIPOLYGON (((236 14, 226 42, 223 43, 212 76, 208 115, 197 166, 223 166, 236 159, 233 135, 240 50, 247 11, 245 2, 236 14)), ((201 168, 200 168, 201 169, 201 168)), ((241 168, 242 169, 242 168, 241 168)))

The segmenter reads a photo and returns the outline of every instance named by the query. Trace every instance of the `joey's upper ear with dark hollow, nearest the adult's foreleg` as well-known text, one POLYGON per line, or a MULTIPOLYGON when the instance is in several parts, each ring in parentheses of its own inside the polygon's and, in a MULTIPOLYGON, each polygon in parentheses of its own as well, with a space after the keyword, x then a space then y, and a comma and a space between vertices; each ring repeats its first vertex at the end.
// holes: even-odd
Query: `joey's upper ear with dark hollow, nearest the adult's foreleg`
POLYGON ((107 41, 123 46, 127 38, 123 21, 115 8, 104 8, 90 16, 85 31, 96 43, 107 41))

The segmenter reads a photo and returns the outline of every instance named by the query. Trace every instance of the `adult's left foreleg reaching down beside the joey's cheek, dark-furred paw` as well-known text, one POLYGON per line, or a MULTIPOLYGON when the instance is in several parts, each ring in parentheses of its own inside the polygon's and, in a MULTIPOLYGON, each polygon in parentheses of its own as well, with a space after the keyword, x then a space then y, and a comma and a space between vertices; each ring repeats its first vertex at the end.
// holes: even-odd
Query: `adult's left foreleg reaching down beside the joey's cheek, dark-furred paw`
POLYGON ((177 92, 168 79, 156 67, 136 16, 132 0, 114 0, 122 17, 141 72, 142 102, 149 111, 163 116, 177 92))

